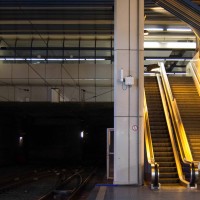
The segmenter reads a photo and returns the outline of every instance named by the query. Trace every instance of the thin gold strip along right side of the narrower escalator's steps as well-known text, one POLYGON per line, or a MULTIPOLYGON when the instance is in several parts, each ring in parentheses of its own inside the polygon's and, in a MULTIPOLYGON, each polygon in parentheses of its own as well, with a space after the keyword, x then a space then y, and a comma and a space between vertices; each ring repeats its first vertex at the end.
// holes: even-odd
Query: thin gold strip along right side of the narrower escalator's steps
POLYGON ((172 149, 173 149, 173 153, 174 153, 178 176, 179 176, 180 181, 184 185, 189 187, 190 183, 185 180, 185 177, 183 175, 182 166, 181 166, 181 162, 180 162, 180 158, 179 158, 179 154, 177 151, 176 142, 175 142, 175 138, 174 138, 174 134, 173 134, 173 127, 172 127, 171 120, 170 120, 170 114, 169 114, 169 110, 168 110, 168 106, 167 106, 167 100, 166 100, 166 97, 164 94, 164 89, 163 89, 163 86, 161 83, 161 78, 160 78, 160 75, 158 75, 158 74, 156 75, 156 77, 157 77, 158 87, 159 87, 160 96, 161 96, 161 100, 162 100, 162 104, 163 104, 163 110, 164 110, 165 119, 166 119, 166 123, 167 123, 167 127, 168 127, 170 141, 171 141, 171 145, 172 145, 172 149))

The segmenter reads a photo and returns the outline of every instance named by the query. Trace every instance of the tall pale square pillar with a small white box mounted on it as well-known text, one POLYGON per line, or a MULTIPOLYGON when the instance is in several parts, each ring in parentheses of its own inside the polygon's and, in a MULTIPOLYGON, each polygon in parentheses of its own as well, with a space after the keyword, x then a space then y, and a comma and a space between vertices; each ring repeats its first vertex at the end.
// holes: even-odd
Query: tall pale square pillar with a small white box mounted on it
POLYGON ((144 0, 115 0, 114 184, 143 183, 144 0), (132 76, 134 85, 120 82, 132 76))

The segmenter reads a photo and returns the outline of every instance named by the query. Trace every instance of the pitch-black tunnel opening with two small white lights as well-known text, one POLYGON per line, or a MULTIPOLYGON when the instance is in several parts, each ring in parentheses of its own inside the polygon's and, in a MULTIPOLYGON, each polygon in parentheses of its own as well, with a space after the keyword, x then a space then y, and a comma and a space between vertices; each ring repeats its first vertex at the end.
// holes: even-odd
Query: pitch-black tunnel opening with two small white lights
POLYGON ((105 166, 113 103, 4 102, 0 110, 0 166, 105 166))

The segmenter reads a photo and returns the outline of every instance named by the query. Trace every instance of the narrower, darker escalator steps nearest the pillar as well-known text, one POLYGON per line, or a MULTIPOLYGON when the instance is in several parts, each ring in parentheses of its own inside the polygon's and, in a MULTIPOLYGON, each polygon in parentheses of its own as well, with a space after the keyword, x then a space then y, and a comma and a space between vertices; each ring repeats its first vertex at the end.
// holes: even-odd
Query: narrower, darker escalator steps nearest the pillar
POLYGON ((159 182, 177 184, 179 178, 156 77, 145 77, 144 86, 154 157, 160 169, 159 182))

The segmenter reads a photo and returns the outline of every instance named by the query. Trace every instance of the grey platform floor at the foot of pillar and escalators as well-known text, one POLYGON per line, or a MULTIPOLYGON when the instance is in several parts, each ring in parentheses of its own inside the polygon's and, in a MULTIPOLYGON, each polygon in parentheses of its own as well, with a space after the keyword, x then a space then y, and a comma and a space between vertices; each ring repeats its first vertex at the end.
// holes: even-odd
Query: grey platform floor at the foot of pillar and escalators
POLYGON ((88 200, 199 200, 199 189, 163 186, 151 190, 148 186, 96 186, 88 200))

